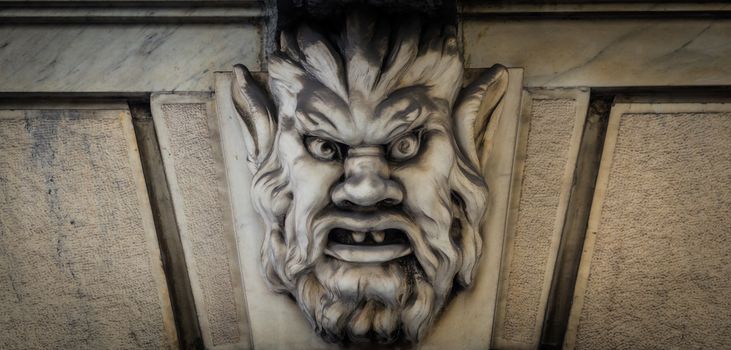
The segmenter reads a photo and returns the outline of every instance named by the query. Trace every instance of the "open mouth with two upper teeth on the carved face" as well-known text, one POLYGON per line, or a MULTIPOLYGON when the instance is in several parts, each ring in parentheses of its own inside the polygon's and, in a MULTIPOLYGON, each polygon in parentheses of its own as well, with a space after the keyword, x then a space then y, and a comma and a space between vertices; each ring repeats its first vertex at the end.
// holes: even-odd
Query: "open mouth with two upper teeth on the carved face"
POLYGON ((399 229, 354 231, 335 228, 328 235, 325 254, 357 263, 380 263, 412 253, 406 234, 399 229))

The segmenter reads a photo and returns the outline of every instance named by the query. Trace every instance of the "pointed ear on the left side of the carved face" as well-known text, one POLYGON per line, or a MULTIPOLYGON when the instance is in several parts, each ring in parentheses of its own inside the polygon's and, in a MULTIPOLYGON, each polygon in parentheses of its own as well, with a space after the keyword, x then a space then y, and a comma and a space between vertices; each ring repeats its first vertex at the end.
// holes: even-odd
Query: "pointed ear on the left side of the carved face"
POLYGON ((274 109, 266 93, 254 82, 243 65, 234 66, 231 96, 239 117, 244 121, 249 170, 256 172, 272 150, 277 122, 272 116, 274 109))

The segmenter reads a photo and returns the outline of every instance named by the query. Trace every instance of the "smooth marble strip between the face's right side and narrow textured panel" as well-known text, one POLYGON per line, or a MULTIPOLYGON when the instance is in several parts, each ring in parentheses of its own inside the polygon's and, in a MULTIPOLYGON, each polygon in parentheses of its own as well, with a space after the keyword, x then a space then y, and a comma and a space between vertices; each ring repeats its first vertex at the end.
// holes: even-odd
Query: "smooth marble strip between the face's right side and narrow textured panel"
POLYGON ((490 199, 480 267, 474 285, 447 305, 420 349, 485 349, 490 344, 523 92, 523 70, 511 68, 508 74, 505 99, 498 107, 502 112, 497 114, 499 120, 491 121, 495 129, 493 136, 487 137, 490 145, 485 147, 485 152, 490 152, 483 165, 490 199), (490 148, 493 151, 488 151, 490 148))

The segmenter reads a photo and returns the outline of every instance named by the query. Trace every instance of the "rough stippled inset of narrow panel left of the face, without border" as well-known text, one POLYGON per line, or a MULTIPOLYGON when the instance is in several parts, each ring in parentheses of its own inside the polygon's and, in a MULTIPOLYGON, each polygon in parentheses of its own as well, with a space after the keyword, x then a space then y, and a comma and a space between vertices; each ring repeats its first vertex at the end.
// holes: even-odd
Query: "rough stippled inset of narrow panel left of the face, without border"
POLYGON ((229 249, 235 248, 226 239, 233 233, 224 229, 224 211, 229 209, 216 177, 216 167, 222 165, 215 161, 206 105, 171 103, 162 104, 161 110, 169 134, 174 191, 182 200, 175 203, 177 219, 191 278, 200 288, 199 317, 207 320, 204 325, 213 345, 237 343, 240 320, 229 258, 229 249))

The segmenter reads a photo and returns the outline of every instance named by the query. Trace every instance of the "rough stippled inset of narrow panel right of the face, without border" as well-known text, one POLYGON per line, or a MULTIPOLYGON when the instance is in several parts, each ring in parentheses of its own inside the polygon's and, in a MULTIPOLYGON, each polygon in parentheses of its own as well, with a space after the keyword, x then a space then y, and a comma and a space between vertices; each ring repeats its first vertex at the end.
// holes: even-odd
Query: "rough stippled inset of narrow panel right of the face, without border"
POLYGON ((544 276, 559 210, 574 132, 576 101, 534 99, 523 169, 520 207, 508 267, 503 334, 519 343, 535 341, 544 276))

